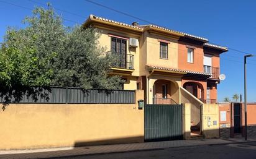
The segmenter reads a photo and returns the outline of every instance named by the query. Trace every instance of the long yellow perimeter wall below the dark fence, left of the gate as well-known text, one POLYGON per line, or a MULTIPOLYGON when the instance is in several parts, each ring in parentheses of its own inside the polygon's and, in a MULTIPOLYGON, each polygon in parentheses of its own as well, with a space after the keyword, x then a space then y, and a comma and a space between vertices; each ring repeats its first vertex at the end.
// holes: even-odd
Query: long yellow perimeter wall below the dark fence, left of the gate
POLYGON ((11 104, 0 112, 0 149, 144 142, 135 104, 11 104))

